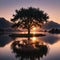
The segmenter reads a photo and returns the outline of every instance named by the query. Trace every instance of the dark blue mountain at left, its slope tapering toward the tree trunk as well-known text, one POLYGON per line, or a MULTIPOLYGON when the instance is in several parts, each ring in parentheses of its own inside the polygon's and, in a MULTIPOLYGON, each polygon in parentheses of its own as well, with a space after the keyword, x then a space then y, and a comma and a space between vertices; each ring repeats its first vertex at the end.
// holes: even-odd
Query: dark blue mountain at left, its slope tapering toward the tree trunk
POLYGON ((5 32, 22 32, 22 30, 12 28, 12 25, 13 23, 9 22, 5 18, 0 18, 0 34, 5 32))

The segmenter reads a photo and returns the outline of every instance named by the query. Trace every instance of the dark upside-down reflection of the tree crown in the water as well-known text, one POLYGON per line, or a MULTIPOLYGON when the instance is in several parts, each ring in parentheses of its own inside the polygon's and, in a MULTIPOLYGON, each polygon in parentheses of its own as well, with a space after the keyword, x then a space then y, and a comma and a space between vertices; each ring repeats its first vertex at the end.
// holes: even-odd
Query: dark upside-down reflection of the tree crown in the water
POLYGON ((40 60, 48 53, 47 45, 39 45, 39 42, 27 44, 27 41, 14 41, 11 45, 13 53, 19 60, 40 60))

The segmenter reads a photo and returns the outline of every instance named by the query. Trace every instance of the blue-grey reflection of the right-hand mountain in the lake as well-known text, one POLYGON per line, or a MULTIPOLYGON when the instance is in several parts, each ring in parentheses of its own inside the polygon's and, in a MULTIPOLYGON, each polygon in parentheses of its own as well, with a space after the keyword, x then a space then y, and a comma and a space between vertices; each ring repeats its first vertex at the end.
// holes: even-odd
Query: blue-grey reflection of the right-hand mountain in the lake
POLYGON ((44 42, 49 43, 49 44, 54 44, 57 41, 59 41, 59 39, 60 38, 58 36, 54 36, 54 35, 48 35, 48 36, 41 38, 41 40, 43 40, 44 42))

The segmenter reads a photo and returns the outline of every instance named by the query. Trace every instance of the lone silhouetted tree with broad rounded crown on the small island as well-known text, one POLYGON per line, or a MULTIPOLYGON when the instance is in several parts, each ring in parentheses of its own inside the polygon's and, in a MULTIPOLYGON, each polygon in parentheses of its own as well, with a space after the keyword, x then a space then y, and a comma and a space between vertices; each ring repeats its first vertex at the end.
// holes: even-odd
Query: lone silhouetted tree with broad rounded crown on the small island
POLYGON ((13 15, 13 19, 11 19, 11 21, 17 21, 17 23, 15 23, 12 27, 26 28, 28 29, 28 35, 30 34, 30 29, 32 26, 41 27, 49 19, 48 14, 44 13, 42 10, 39 10, 39 8, 21 8, 15 12, 16 14, 13 15))

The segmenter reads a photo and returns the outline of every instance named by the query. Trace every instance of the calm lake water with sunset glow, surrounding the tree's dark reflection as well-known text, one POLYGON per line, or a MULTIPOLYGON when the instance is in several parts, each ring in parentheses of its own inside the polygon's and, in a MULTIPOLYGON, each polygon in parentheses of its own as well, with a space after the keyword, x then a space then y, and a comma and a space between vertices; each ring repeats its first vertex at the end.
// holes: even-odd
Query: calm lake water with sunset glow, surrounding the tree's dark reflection
MULTIPOLYGON (((11 38, 9 34, 0 35, 0 60, 29 60, 19 56, 11 49, 12 43, 28 38, 11 38)), ((39 57, 39 60, 60 60, 60 35, 46 34, 43 37, 32 37, 34 40, 39 40, 48 46, 48 52, 39 57)), ((35 57, 33 57, 35 58, 35 57)), ((38 60, 37 58, 31 60, 38 60)))

